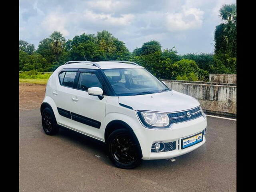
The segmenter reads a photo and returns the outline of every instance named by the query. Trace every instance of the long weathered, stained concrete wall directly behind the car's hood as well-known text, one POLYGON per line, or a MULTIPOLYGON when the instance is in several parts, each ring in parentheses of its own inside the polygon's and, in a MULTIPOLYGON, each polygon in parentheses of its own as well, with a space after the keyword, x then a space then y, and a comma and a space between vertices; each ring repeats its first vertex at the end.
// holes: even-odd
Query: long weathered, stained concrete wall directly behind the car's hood
POLYGON ((169 88, 196 98, 208 113, 236 116, 236 86, 162 80, 169 88))

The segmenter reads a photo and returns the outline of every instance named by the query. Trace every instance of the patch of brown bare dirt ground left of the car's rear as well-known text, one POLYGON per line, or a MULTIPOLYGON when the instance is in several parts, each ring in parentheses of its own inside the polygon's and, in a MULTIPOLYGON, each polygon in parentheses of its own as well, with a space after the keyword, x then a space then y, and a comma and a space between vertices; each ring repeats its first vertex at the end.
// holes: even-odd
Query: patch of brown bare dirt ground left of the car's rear
POLYGON ((20 83, 20 111, 39 108, 44 91, 45 85, 20 83))

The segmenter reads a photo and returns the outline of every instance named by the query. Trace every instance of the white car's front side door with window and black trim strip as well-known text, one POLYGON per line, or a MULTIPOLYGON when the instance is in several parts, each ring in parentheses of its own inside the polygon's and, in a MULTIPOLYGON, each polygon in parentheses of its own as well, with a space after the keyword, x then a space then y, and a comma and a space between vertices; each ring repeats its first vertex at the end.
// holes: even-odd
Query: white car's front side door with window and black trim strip
POLYGON ((104 140, 104 126, 106 101, 108 96, 99 98, 89 95, 87 90, 90 87, 100 87, 103 95, 106 92, 104 82, 98 70, 79 69, 76 77, 76 85, 72 91, 71 118, 76 130, 94 138, 104 140))

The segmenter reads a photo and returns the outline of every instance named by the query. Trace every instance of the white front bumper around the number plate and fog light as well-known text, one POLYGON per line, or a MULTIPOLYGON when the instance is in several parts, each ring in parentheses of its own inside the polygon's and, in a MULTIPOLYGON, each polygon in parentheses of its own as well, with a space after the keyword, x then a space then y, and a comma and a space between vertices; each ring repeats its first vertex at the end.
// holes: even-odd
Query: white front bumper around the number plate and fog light
POLYGON ((173 124, 172 128, 164 130, 148 129, 141 126, 141 128, 134 130, 134 133, 140 142, 142 159, 169 159, 186 154, 202 146, 206 141, 205 136, 203 136, 202 142, 185 149, 181 149, 181 139, 202 132, 206 126, 206 118, 200 117, 187 122, 173 124), (152 144, 160 141, 164 143, 176 141, 175 150, 167 152, 151 152, 152 144))

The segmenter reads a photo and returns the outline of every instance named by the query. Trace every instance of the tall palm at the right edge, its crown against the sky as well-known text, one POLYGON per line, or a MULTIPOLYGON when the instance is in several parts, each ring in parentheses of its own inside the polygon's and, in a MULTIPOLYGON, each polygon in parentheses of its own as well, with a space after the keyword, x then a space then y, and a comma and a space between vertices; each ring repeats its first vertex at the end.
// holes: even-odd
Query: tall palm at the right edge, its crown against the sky
POLYGON ((236 4, 224 4, 219 10, 220 18, 224 21, 223 38, 232 52, 236 40, 236 4))

